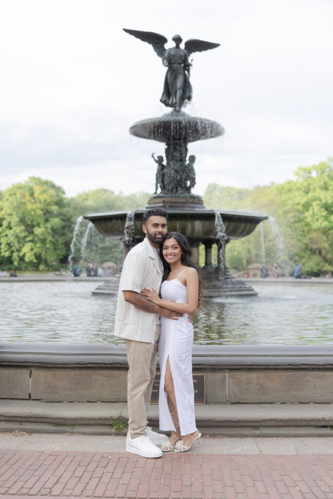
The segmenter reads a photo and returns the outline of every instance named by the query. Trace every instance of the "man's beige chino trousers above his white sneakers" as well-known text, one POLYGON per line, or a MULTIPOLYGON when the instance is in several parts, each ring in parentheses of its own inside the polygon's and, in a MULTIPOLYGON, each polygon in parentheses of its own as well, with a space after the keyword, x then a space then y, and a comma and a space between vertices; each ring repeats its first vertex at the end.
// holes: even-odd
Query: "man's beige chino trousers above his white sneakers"
POLYGON ((131 438, 146 435, 147 412, 156 374, 157 343, 161 325, 156 324, 154 344, 125 339, 127 361, 128 432, 131 438))

